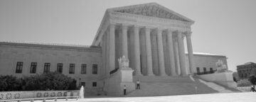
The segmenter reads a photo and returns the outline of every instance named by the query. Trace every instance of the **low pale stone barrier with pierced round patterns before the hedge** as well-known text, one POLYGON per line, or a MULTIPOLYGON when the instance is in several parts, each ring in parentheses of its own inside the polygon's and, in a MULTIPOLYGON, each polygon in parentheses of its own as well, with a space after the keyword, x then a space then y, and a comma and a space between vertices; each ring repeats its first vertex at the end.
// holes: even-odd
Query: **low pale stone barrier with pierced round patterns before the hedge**
POLYGON ((78 96, 79 90, 70 91, 1 91, 0 101, 18 98, 44 98, 61 96, 78 96))

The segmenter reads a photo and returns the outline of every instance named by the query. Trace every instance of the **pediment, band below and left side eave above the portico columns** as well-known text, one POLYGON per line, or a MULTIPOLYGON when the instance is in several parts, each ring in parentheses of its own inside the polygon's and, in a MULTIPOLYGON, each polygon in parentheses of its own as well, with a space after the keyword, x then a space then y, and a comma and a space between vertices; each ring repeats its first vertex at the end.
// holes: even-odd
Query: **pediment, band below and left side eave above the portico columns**
POLYGON ((191 30, 191 25, 194 21, 156 3, 108 8, 92 45, 97 46, 100 44, 102 36, 110 23, 135 25, 140 28, 172 28, 185 32, 186 30, 191 30))

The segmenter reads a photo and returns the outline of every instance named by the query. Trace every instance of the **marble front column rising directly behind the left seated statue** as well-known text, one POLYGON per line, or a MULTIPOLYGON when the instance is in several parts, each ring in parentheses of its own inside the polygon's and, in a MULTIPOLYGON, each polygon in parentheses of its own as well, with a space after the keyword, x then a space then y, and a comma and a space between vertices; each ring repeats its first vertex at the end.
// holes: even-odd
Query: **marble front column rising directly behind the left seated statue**
POLYGON ((122 56, 128 58, 128 45, 127 45, 127 25, 122 25, 122 56))

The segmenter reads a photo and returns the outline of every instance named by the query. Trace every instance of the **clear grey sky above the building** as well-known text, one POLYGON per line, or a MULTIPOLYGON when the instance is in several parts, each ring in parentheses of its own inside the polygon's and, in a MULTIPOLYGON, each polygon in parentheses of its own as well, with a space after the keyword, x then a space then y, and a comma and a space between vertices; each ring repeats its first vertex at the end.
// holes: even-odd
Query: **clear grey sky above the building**
POLYGON ((91 45, 107 8, 150 2, 195 21, 193 52, 256 62, 255 0, 1 0, 0 41, 91 45))

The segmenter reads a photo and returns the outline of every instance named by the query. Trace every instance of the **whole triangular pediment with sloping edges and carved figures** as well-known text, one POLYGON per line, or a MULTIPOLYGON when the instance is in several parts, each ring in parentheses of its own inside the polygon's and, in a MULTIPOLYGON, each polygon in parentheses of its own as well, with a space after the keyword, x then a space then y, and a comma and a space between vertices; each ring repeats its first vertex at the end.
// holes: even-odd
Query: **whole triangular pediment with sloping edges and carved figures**
POLYGON ((152 16, 157 18, 167 18, 177 21, 193 22, 191 19, 181 16, 180 14, 165 8, 156 3, 139 4, 134 6, 124 6, 119 8, 111 8, 111 11, 119 13, 131 13, 142 16, 152 16))

